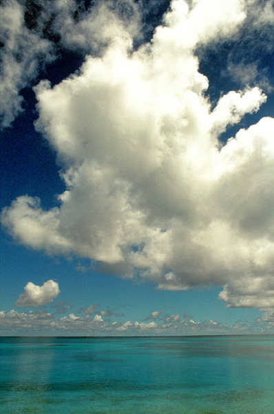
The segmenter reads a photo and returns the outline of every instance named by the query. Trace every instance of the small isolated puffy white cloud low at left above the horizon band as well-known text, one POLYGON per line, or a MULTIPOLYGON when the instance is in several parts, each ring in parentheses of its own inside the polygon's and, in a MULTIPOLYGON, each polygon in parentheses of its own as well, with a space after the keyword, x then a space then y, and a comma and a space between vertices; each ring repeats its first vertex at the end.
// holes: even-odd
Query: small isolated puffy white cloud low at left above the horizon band
POLYGON ((49 304, 56 299, 59 293, 59 284, 52 279, 45 282, 42 286, 28 282, 24 287, 24 292, 21 293, 14 305, 24 308, 25 306, 41 306, 49 304))

